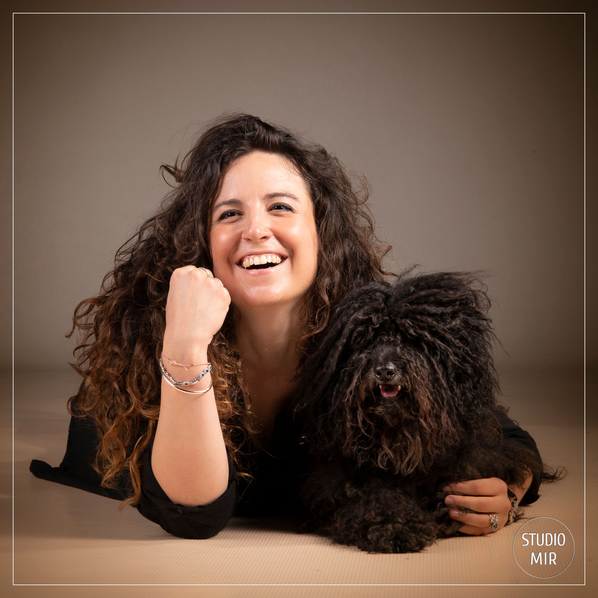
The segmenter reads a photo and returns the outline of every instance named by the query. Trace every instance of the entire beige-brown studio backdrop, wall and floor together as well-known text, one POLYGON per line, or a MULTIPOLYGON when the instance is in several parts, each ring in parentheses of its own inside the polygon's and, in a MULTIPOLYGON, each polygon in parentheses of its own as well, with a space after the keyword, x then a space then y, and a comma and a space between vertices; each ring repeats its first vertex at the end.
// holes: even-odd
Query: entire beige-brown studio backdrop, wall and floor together
MULTIPOLYGON (((583 11, 593 2, 501 0, 286 2, 23 1, 22 11, 583 11)), ((0 26, 10 56, 12 16, 0 26)), ((596 51, 588 20, 588 74, 596 51)), ((20 583, 536 582, 511 560, 512 530, 447 541, 401 560, 234 518, 216 538, 179 541, 130 509, 34 478, 58 465, 78 380, 64 334, 97 294, 118 246, 166 191, 161 163, 198 124, 242 109, 288 124, 367 175, 387 267, 489 268, 503 389, 563 483, 542 486, 530 516, 570 525, 575 561, 553 581, 596 586, 596 384, 584 376, 584 16, 22 15, 14 19, 14 404, 2 372, 2 577, 20 583), (52 368, 43 370, 42 368, 52 368), (39 371, 38 371, 39 370, 39 371), (509 371, 508 371, 509 370, 509 371), (589 382, 589 380, 588 380, 589 382), (10 411, 13 410, 11 421, 10 411), (11 438, 11 426, 14 434, 11 438), (585 452, 587 440, 587 455, 585 452), (12 454, 11 454, 12 453, 12 454), (588 476, 585 476, 585 464, 588 476), (13 474, 14 468, 14 474, 13 474), (590 469, 591 468, 591 469, 590 469), (587 481, 587 488, 586 488, 587 481), (590 502, 591 501, 591 502, 590 502), (11 517, 14 520, 11 521, 11 517), (251 524, 250 524, 251 523, 251 524), (14 527, 13 527, 14 526, 14 527), (11 533, 14 529, 14 539, 11 533), (14 562, 10 558, 14 551, 14 562), (228 563, 235 563, 230 567, 228 563), (10 571, 11 565, 13 570, 10 571)), ((598 72, 598 69, 596 69, 598 72)), ((11 69, 3 72, 11 87, 11 69)), ((588 77, 587 97, 596 97, 588 77)), ((11 112, 5 96, 5 114, 11 112)), ((587 114, 587 130, 596 115, 587 114)), ((11 123, 4 121, 5 138, 11 123)), ((10 146, 2 154, 2 364, 11 365, 10 146)), ((595 222, 595 144, 588 139, 587 220, 595 222)), ((596 240, 587 239, 587 362, 596 366, 596 240)), ((595 371, 594 371, 595 373, 595 371)), ((64 586, 13 587, 67 596, 64 586)), ((409 588, 429 596, 437 588, 409 588)), ((90 596, 105 589, 87 588, 90 596)), ((176 588, 206 596, 277 596, 280 587, 176 588)), ((402 587, 286 587, 289 596, 398 596, 402 587)), ((579 590, 579 591, 576 591, 579 590)), ((585 592, 585 590, 588 590, 585 592)), ((77 590, 79 591, 79 590, 77 590)), ((111 588, 161 596, 166 587, 111 588)), ((443 588, 446 596, 477 587, 443 588)), ((563 589, 486 587, 487 596, 561 596, 563 589), (518 591, 517 591, 518 590, 518 591)))

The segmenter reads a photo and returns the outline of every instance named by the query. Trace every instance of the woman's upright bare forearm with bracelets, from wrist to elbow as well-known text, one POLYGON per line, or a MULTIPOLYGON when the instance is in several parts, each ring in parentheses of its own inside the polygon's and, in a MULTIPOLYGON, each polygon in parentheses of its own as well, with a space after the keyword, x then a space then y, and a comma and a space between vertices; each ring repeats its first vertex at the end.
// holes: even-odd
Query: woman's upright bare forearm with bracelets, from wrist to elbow
MULTIPOLYGON (((185 364, 205 364, 207 349, 181 351, 164 346, 164 355, 185 364), (172 355, 172 357, 170 357, 172 355)), ((205 365, 188 368, 164 362, 177 382, 194 379, 205 365)), ((204 390, 206 374, 187 390, 204 390)), ((162 379, 160 416, 151 456, 154 477, 172 502, 184 507, 207 505, 228 486, 228 457, 213 388, 200 395, 183 393, 162 379)))

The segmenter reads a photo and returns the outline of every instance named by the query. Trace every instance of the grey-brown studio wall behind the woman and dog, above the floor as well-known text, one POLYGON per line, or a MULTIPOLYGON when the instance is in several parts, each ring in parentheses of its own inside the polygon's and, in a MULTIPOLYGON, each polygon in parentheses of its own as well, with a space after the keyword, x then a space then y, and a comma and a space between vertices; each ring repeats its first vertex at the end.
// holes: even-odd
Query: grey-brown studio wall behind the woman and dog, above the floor
POLYGON ((237 108, 365 173, 390 268, 489 268, 500 367, 582 366, 583 15, 27 14, 14 40, 16 367, 68 367, 158 167, 237 108))

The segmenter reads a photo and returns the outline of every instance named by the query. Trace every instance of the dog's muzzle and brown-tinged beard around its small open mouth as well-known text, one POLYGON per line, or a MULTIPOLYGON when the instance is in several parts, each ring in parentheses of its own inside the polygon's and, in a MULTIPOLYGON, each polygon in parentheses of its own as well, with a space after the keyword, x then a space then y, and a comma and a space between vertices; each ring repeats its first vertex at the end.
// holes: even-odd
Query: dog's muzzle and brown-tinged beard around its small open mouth
POLYGON ((407 474, 431 465, 462 427, 448 416, 450 393, 435 372, 441 355, 431 358, 420 338, 403 338, 389 324, 369 328, 367 341, 351 345, 328 395, 335 407, 328 422, 344 426, 331 437, 342 439, 345 457, 407 474))

